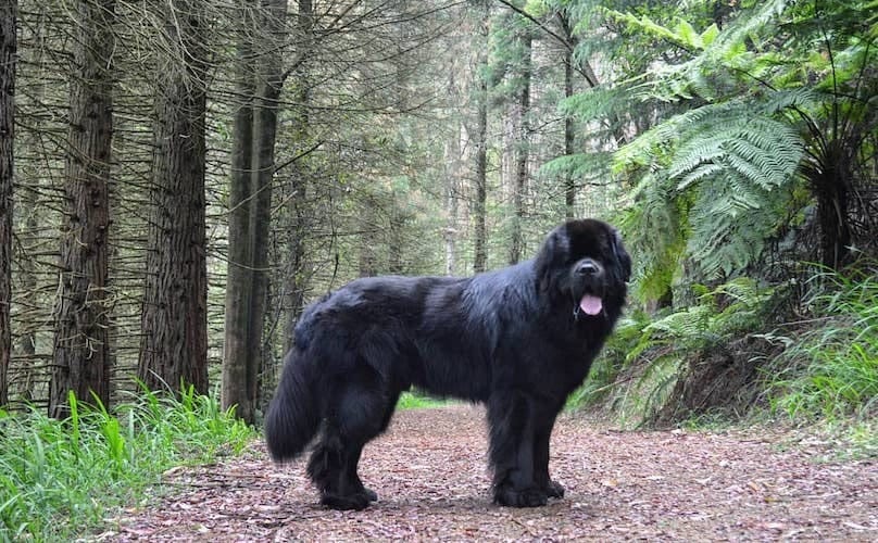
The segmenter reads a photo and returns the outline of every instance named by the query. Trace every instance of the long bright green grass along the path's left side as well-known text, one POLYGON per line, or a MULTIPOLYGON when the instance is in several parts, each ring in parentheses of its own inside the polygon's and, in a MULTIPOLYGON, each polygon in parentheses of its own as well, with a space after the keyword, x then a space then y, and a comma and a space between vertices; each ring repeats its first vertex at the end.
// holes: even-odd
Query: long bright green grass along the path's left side
POLYGON ((238 454, 254 435, 191 388, 143 391, 112 414, 71 395, 66 420, 0 411, 0 541, 75 539, 168 468, 238 454))

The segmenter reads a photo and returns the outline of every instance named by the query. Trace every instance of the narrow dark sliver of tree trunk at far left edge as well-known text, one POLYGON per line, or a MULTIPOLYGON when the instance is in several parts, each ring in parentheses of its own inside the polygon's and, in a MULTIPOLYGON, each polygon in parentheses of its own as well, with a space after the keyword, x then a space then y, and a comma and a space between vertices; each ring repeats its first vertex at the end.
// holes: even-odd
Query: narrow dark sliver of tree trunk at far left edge
POLYGON ((15 59, 18 4, 0 5, 0 407, 9 403, 9 363, 12 354, 12 143, 15 117, 15 59))

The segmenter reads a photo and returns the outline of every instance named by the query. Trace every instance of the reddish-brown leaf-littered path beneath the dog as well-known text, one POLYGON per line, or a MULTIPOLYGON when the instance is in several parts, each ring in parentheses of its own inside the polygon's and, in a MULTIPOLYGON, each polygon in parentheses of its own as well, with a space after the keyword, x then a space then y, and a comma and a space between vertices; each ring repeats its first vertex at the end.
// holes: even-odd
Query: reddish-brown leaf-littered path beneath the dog
POLYGON ((363 455, 379 501, 364 512, 316 505, 303 463, 276 467, 262 444, 242 459, 180 469, 175 491, 127 510, 103 541, 876 541, 878 464, 816 463, 736 433, 615 432, 559 421, 547 507, 491 505, 482 412, 398 413, 363 455))

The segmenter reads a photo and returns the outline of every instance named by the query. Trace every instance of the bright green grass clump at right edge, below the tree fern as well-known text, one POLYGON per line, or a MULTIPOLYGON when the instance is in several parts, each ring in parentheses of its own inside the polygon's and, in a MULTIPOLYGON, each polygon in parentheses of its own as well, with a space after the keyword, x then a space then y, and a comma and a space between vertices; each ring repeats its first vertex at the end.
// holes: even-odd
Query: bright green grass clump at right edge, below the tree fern
POLYGON ((810 300, 816 319, 795 336, 766 339, 787 345, 765 372, 772 411, 792 419, 878 414, 878 279, 824 273, 810 300))

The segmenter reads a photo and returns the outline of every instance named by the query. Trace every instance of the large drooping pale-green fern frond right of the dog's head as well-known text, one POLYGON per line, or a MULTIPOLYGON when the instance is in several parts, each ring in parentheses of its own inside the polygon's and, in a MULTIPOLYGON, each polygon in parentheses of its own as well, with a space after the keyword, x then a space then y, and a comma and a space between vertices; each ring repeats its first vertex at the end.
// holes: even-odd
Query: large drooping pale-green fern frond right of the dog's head
POLYGON ((641 165, 652 169, 642 177, 639 193, 644 200, 637 205, 641 214, 651 214, 651 224, 643 228, 638 220, 631 229, 653 232, 664 217, 666 225, 658 231, 686 236, 685 243, 672 237, 643 253, 652 268, 645 275, 667 277, 666 266, 683 255, 703 280, 731 277, 756 261, 785 217, 779 210, 789 204, 791 189, 779 189, 793 186, 804 154, 800 135, 765 112, 794 98, 801 94, 785 93, 761 108, 737 100, 706 104, 657 125, 617 153, 618 172, 641 165), (687 205, 685 215, 679 214, 681 204, 687 205), (685 251, 667 254, 670 248, 685 251))

